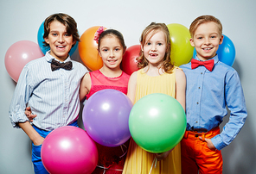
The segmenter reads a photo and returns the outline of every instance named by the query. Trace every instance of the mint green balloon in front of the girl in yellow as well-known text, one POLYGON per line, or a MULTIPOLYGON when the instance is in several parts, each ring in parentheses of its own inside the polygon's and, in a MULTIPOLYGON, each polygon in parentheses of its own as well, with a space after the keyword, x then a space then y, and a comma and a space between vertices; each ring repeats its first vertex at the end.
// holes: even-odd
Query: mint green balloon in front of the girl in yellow
POLYGON ((147 152, 167 152, 181 140, 187 119, 182 105, 172 96, 154 93, 142 97, 131 109, 132 139, 147 152))

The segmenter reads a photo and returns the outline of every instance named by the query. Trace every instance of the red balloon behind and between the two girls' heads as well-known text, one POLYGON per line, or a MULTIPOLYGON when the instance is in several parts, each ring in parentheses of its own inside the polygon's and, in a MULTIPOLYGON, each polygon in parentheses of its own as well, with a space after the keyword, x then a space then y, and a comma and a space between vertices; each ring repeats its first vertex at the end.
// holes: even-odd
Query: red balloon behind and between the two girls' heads
POLYGON ((125 71, 126 74, 131 75, 132 72, 138 71, 138 58, 140 53, 140 45, 134 45, 126 49, 125 54, 123 56, 121 69, 125 71))

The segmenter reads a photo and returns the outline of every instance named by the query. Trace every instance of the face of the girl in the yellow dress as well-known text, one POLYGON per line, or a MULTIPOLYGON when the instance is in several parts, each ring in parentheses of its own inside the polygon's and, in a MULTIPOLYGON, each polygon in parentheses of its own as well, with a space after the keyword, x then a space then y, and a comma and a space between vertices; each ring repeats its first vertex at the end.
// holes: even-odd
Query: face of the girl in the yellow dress
POLYGON ((142 50, 144 51, 144 57, 149 61, 149 64, 158 66, 167 51, 165 34, 163 31, 158 30, 153 33, 151 31, 145 38, 144 46, 142 50), (153 35, 152 35, 153 34, 153 35))

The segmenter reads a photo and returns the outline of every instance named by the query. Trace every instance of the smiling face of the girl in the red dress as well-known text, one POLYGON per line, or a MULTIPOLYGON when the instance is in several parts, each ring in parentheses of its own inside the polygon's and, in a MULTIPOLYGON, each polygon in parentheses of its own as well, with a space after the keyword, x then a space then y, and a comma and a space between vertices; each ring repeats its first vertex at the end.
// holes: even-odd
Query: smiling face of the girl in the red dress
POLYGON ((103 65, 109 69, 119 69, 125 50, 118 38, 114 35, 106 35, 100 40, 99 55, 103 65))

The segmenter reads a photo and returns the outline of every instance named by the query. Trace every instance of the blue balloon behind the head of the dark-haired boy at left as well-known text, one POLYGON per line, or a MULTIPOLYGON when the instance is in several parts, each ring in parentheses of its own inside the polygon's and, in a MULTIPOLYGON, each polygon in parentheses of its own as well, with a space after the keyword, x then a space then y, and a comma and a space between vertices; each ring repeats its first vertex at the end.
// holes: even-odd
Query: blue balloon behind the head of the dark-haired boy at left
MULTIPOLYGON (((47 53, 50 50, 50 48, 43 46, 43 41, 44 41, 44 39, 43 39, 43 34, 44 34, 43 25, 44 25, 44 22, 42 22, 40 28, 38 29, 37 42, 38 42, 38 45, 39 45, 42 53, 45 55, 45 53, 47 53)), ((69 55, 72 55, 75 52, 77 47, 78 47, 78 41, 75 43, 74 47, 71 48, 71 50, 69 52, 69 55)))

